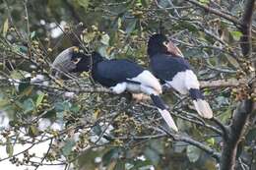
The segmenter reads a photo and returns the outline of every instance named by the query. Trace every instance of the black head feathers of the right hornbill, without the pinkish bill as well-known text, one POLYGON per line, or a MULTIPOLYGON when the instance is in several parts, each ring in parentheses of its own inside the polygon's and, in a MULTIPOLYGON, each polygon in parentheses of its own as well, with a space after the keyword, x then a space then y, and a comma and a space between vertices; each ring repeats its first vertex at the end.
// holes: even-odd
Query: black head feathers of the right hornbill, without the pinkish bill
POLYGON ((148 54, 150 57, 158 53, 169 53, 167 47, 162 44, 163 42, 168 42, 167 37, 163 34, 157 33, 150 37, 148 41, 148 54))

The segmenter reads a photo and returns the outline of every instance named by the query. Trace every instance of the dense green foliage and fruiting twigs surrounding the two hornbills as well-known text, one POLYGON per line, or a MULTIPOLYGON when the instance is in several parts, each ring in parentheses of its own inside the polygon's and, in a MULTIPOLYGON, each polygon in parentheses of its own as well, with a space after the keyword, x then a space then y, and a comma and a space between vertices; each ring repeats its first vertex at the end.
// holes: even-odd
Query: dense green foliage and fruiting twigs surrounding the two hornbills
MULTIPOLYGON (((241 0, 0 0, 0 144, 7 153, 0 166, 8 159, 35 168, 217 169, 234 110, 256 97, 256 14, 252 51, 245 55, 244 32, 235 23, 244 9, 241 0), (150 101, 112 94, 90 73, 64 81, 51 75, 56 55, 73 45, 147 68, 154 32, 168 34, 194 67, 215 119, 200 118, 189 97, 166 92, 180 129, 175 134, 150 101), (33 154, 44 142, 44 154, 33 154)), ((239 169, 256 166, 251 115, 237 147, 239 169)))

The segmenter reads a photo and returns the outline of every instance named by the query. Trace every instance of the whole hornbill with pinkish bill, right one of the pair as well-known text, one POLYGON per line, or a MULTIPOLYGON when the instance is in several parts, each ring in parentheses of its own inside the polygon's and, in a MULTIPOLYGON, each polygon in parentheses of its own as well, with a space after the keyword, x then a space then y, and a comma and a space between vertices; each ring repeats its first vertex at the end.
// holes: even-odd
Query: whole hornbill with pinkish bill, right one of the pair
POLYGON ((181 94, 189 93, 198 114, 211 119, 213 111, 200 91, 196 75, 180 50, 163 34, 154 34, 148 42, 148 55, 153 74, 164 86, 181 94))

